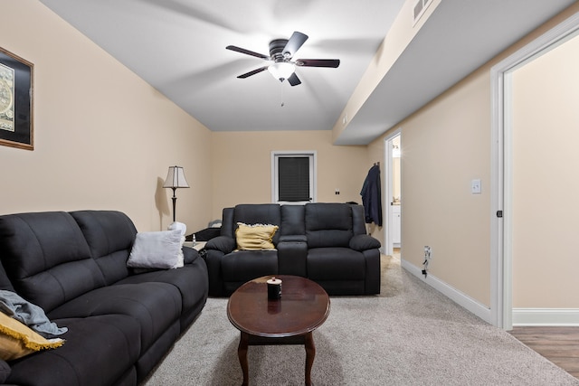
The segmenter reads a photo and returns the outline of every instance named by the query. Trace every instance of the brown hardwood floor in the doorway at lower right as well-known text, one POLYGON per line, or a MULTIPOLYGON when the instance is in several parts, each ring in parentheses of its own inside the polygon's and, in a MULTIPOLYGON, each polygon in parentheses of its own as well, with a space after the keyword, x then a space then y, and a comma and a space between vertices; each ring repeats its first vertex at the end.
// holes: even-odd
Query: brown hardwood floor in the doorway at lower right
POLYGON ((516 326, 510 334, 579 379, 579 327, 516 326))

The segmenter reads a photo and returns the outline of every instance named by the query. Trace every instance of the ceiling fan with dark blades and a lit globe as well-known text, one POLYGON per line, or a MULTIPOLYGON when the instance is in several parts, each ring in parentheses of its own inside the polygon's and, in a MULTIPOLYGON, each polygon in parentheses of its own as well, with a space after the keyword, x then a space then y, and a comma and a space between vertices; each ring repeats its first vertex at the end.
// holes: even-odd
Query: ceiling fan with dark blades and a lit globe
POLYGON ((303 45, 304 42, 308 40, 308 35, 305 33, 299 33, 298 31, 291 34, 288 39, 275 39, 270 42, 270 55, 264 55, 258 52, 252 52, 244 48, 236 47, 234 45, 228 45, 225 47, 227 50, 232 50, 236 52, 242 52, 247 55, 252 55, 257 58, 272 61, 271 64, 260 67, 259 69, 246 72, 237 78, 245 79, 260 73, 261 71, 268 70, 271 75, 277 80, 283 81, 288 80, 289 84, 292 86, 297 86, 301 84, 301 81, 296 75, 296 66, 298 67, 331 67, 337 68, 340 65, 339 59, 298 59, 292 61, 293 55, 299 50, 299 47, 303 45))

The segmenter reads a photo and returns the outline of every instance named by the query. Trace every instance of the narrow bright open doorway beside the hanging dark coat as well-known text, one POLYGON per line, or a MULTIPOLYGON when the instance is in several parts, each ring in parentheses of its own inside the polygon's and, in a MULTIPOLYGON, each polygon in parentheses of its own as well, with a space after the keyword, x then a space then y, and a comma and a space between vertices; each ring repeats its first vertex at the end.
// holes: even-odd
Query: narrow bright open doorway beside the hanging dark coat
POLYGON ((402 253, 402 129, 384 138, 384 253, 402 253))

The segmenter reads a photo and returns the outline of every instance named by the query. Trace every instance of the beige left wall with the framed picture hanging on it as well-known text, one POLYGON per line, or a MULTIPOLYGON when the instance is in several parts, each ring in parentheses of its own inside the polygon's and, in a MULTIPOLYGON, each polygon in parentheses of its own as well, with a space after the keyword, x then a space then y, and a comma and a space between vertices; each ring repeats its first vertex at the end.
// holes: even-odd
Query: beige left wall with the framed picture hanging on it
POLYGON ((0 213, 115 209, 166 229, 160 184, 182 165, 193 188, 177 191, 177 219, 204 226, 209 130, 40 2, 4 0, 0 14, 0 46, 34 64, 35 144, 0 146, 0 213))

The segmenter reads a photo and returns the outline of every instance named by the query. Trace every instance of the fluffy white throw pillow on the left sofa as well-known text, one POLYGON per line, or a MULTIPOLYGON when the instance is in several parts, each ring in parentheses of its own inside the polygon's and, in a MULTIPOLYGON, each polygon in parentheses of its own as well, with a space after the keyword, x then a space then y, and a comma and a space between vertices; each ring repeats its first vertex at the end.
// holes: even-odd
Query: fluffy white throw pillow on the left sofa
MULTIPOLYGON (((127 260, 131 268, 176 268, 181 250, 181 231, 139 232, 127 260)), ((183 259, 183 258, 182 258, 183 259)))

